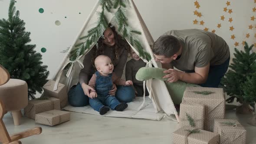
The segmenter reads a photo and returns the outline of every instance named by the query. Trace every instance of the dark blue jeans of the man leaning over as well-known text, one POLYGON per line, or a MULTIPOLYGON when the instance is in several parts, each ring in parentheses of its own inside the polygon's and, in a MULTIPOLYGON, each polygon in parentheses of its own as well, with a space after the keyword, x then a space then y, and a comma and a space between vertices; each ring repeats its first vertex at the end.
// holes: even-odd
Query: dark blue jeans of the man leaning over
POLYGON ((199 84, 202 87, 218 88, 220 80, 225 75, 230 63, 230 57, 220 65, 211 65, 208 78, 205 83, 199 84))

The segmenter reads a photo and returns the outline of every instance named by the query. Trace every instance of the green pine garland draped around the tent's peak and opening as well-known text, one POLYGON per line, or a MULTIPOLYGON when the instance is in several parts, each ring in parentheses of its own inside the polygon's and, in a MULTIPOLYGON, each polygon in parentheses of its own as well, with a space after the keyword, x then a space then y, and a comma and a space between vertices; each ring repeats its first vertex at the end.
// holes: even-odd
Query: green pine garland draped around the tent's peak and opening
MULTIPOLYGON (((111 12, 112 8, 118 8, 114 14, 114 19, 118 23, 118 32, 122 33, 124 38, 129 39, 131 45, 138 50, 140 57, 150 60, 150 54, 145 52, 141 43, 135 39, 136 35, 141 35, 141 32, 133 29, 131 30, 128 25, 128 19, 125 11, 126 3, 128 3, 128 0, 100 0, 99 3, 102 6, 102 11, 98 13, 97 25, 92 29, 89 29, 86 36, 80 37, 80 40, 84 39, 85 41, 75 45, 75 49, 70 52, 70 60, 74 61, 78 56, 81 56, 85 50, 89 49, 89 46, 91 46, 93 43, 95 43, 97 46, 98 38, 103 36, 103 32, 108 27, 108 20, 105 17, 104 12, 105 10, 111 12)), ((68 49, 64 50, 63 52, 67 51, 68 49)), ((69 66, 70 65, 67 67, 69 66)))

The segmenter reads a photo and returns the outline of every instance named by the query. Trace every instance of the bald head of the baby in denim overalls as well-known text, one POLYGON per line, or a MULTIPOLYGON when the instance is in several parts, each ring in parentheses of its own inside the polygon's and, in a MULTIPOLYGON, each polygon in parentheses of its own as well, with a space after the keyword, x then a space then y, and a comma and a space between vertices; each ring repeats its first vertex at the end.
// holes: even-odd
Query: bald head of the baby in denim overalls
POLYGON ((95 68, 102 75, 108 75, 113 72, 114 65, 111 62, 111 59, 105 55, 99 55, 94 61, 95 68))

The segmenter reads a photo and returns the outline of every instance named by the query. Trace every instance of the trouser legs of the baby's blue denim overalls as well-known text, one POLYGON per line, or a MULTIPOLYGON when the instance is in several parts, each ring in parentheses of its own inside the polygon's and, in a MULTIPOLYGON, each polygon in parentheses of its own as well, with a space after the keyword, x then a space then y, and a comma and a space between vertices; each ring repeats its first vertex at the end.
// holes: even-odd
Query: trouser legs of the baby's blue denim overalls
POLYGON ((108 95, 105 97, 89 98, 89 104, 95 111, 99 111, 100 108, 108 106, 112 110, 115 110, 115 107, 120 104, 120 102, 115 98, 115 96, 108 95))

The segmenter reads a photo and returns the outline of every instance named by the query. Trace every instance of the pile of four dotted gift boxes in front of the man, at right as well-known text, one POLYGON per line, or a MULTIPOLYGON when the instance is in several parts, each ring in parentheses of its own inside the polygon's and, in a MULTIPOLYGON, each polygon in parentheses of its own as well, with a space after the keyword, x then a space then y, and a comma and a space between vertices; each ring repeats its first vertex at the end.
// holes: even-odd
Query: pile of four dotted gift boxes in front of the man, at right
POLYGON ((245 144, 245 128, 236 120, 223 119, 224 114, 223 88, 187 87, 174 144, 245 144))

